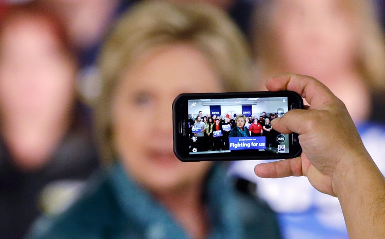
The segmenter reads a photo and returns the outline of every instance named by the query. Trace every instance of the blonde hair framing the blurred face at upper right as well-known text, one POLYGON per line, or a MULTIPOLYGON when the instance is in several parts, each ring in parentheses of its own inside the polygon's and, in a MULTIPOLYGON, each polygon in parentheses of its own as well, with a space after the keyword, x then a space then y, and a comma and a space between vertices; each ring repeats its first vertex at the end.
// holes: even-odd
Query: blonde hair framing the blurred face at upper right
MULTIPOLYGON (((359 52, 356 69, 372 91, 385 90, 385 40, 383 30, 376 19, 373 1, 369 0, 338 0, 343 11, 354 20, 359 29, 359 52)), ((282 66, 276 33, 272 30, 273 15, 277 0, 264 1, 255 11, 253 27, 253 52, 257 66, 268 75, 277 74, 282 66)))

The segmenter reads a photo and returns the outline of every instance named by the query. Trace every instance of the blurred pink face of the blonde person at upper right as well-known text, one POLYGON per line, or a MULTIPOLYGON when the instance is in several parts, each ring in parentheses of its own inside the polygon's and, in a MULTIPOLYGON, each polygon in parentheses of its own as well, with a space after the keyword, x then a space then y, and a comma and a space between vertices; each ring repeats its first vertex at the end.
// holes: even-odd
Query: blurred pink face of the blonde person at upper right
POLYGON ((274 26, 284 70, 312 75, 351 68, 359 35, 342 1, 278 1, 274 26))

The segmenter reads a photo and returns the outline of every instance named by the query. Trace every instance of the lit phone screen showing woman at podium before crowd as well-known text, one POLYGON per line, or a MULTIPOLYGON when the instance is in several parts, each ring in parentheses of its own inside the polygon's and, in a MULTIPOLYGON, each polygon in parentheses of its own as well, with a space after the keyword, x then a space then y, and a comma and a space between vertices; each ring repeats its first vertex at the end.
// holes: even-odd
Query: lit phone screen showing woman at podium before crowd
POLYGON ((260 150, 289 153, 288 135, 270 121, 288 111, 287 97, 188 100, 189 154, 260 150))

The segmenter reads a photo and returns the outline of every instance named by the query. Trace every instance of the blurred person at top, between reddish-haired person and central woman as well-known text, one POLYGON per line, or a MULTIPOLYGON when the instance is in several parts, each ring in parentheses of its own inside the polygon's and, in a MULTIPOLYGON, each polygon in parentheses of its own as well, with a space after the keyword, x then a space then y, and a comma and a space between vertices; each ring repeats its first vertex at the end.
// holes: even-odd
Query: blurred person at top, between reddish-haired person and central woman
MULTIPOLYGON (((110 26, 132 5, 129 0, 34 0, 63 22, 79 59, 77 82, 81 99, 92 102, 100 93, 97 56, 110 26)), ((88 115, 92 114, 87 109, 88 115)), ((90 119, 88 119, 90 120, 90 119)))

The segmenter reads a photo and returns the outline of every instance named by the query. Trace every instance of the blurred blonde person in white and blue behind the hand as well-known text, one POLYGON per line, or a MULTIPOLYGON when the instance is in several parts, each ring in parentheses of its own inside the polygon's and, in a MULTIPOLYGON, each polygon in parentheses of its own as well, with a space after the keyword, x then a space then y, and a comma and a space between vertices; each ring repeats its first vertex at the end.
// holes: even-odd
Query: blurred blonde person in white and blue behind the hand
MULTIPOLYGON (((385 44, 372 1, 272 0, 256 11, 258 78, 283 72, 312 75, 340 98, 356 123, 365 147, 382 172, 385 129, 370 121, 385 89, 385 44)), ((264 82, 257 86, 265 90, 264 82)), ((385 118, 382 119, 382 121, 385 118)), ((300 122, 298 122, 300 123, 300 122)), ((328 130, 329 122, 325 123, 328 130)), ((258 179, 237 162, 232 170, 257 183, 258 194, 279 212, 285 238, 347 238, 336 198, 314 190, 305 178, 258 179)))

